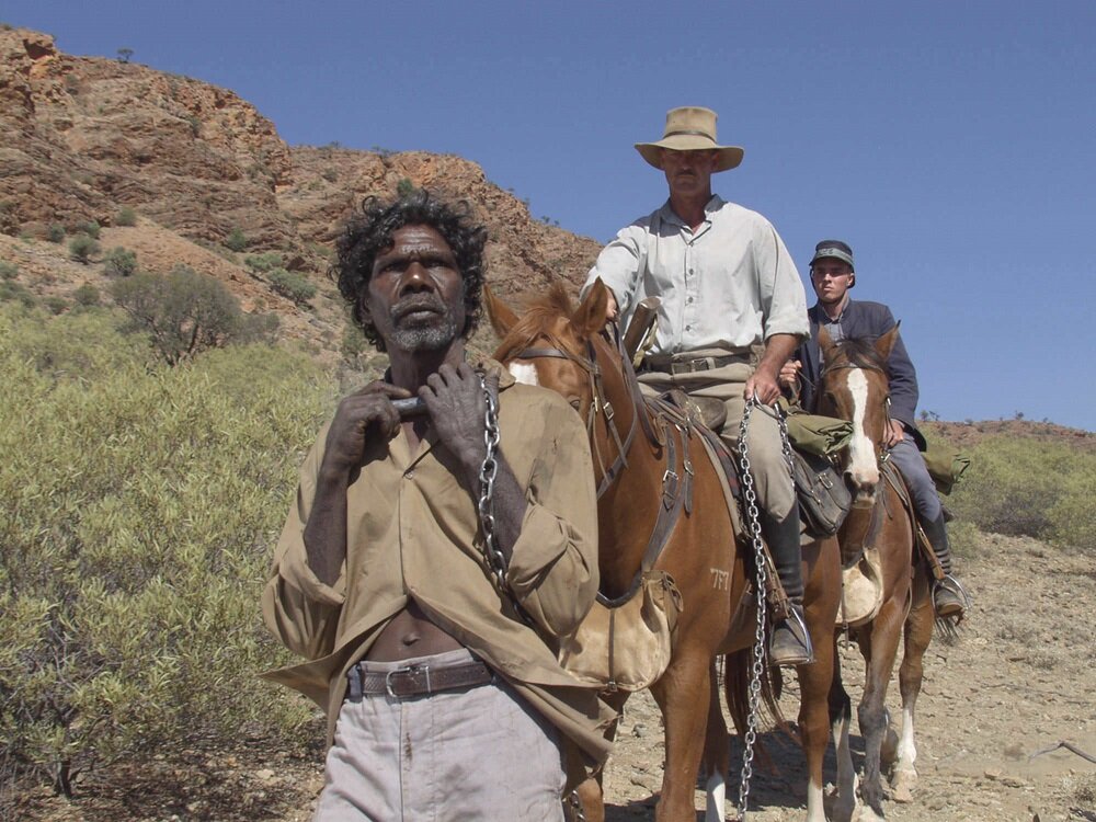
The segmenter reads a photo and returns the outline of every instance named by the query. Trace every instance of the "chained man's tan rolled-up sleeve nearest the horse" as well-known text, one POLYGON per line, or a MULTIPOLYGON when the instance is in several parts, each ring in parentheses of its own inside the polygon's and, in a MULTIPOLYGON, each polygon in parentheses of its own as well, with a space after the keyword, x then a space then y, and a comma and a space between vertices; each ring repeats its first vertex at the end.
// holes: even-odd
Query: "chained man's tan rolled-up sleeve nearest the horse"
POLYGON ((562 637, 597 594, 597 500, 586 432, 561 398, 544 431, 506 582, 538 625, 562 637))

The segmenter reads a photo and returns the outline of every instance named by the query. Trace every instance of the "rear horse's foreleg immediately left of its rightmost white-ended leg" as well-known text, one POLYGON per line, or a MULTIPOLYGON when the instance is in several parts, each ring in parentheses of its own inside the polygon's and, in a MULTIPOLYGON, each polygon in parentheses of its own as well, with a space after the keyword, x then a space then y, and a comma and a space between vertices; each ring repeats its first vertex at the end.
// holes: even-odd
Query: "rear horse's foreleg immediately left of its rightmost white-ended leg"
POLYGON ((880 752, 887 733, 887 686, 894 667, 898 643, 905 623, 905 591, 901 598, 891 597, 883 603, 871 626, 871 657, 864 681, 864 696, 857 710, 860 734, 864 737, 864 781, 860 794, 868 806, 861 819, 883 817, 883 790, 880 777, 880 752))

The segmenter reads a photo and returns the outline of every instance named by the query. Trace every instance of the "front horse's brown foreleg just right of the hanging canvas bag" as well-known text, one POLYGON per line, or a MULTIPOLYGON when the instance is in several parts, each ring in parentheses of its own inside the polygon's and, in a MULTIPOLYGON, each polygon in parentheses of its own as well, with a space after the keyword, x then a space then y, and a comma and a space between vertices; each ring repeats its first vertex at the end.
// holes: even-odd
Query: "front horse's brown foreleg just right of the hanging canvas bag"
POLYGON ((662 709, 666 734, 666 765, 655 822, 695 822, 700 754, 709 710, 711 654, 704 648, 682 648, 651 693, 662 709))

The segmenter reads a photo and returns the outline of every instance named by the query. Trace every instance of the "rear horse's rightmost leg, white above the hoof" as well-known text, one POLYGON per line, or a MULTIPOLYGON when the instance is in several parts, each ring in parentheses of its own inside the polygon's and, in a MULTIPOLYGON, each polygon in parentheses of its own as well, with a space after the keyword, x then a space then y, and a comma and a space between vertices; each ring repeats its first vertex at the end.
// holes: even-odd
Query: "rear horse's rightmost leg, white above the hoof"
POLYGON ((913 718, 925 672, 923 664, 925 651, 933 640, 935 624, 933 597, 929 595, 928 580, 924 572, 918 572, 914 580, 913 602, 913 609, 905 620, 905 649, 898 678, 902 692, 902 735, 899 739, 898 758, 891 776, 895 802, 912 802, 913 786, 917 781, 917 770, 914 767, 917 746, 914 743, 913 718))

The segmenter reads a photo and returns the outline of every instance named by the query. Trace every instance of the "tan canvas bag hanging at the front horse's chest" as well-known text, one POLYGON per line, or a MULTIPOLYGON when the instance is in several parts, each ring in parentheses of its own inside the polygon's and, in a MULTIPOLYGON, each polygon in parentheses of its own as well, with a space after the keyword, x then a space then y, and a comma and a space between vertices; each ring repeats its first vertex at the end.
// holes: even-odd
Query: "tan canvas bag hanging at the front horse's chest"
POLYGON ((601 596, 578 629, 560 642, 560 664, 580 682, 610 690, 642 690, 670 665, 682 594, 665 571, 642 573, 616 607, 601 596))

